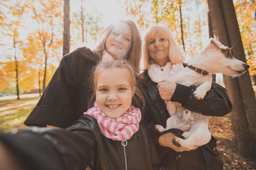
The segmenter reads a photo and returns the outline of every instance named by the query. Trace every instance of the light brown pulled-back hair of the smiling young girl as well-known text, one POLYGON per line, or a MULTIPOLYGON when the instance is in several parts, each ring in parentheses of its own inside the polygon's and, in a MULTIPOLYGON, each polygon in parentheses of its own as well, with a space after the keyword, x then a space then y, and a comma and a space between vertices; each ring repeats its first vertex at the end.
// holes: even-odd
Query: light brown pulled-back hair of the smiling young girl
POLYGON ((134 72, 134 67, 130 65, 127 61, 121 61, 121 60, 116 60, 116 61, 105 61, 105 62, 100 62, 98 65, 94 68, 93 74, 91 77, 91 87, 93 89, 93 94, 89 100, 88 103, 88 108, 90 108, 93 105, 93 102, 96 100, 96 87, 97 87, 97 80, 98 80, 98 74, 102 69, 111 69, 111 68, 126 68, 129 73, 130 73, 130 82, 131 86, 135 87, 135 93, 132 98, 132 105, 135 107, 139 107, 143 109, 145 106, 145 100, 144 97, 141 93, 141 91, 138 88, 137 85, 137 74, 134 72))

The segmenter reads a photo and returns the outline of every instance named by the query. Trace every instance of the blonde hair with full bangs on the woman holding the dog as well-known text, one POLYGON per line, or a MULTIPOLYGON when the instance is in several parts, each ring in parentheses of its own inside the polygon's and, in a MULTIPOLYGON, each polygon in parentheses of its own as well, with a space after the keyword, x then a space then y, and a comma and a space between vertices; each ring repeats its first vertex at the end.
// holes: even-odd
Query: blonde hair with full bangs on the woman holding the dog
POLYGON ((154 63, 154 60, 149 56, 148 42, 156 34, 169 40, 169 61, 171 61, 172 64, 182 63, 184 61, 184 56, 171 32, 166 27, 155 25, 148 28, 144 36, 144 69, 148 69, 148 66, 154 63))

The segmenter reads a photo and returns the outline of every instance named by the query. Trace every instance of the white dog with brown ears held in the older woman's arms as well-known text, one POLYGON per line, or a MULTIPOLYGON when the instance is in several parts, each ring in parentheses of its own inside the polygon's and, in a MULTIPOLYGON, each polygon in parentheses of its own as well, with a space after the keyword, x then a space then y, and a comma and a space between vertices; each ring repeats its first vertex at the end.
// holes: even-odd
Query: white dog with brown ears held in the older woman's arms
MULTIPOLYGON (((246 64, 237 60, 232 55, 227 55, 226 51, 231 49, 222 45, 217 40, 210 38, 210 44, 197 56, 188 62, 196 68, 201 68, 209 73, 223 73, 227 75, 239 75, 245 72, 246 64)), ((231 52, 231 51, 230 51, 231 52)), ((204 98, 206 93, 211 89, 212 75, 202 75, 190 68, 182 69, 175 77, 175 83, 182 85, 196 85, 197 90, 194 92, 194 97, 197 100, 204 98)), ((190 150, 196 149, 208 143, 211 139, 211 133, 208 128, 209 117, 189 111, 181 106, 180 103, 175 102, 176 112, 170 113, 170 118, 167 119, 166 128, 161 125, 156 125, 159 132, 167 129, 186 127, 189 129, 184 132, 182 136, 185 139, 175 137, 173 143, 178 147, 188 148, 190 150)))

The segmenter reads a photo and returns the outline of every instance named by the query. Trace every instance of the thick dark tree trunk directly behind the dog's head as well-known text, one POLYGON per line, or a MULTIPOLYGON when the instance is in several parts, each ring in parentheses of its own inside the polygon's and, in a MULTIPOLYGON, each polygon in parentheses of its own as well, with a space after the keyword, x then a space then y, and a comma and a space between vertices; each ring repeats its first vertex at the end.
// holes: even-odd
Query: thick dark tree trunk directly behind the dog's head
MULTIPOLYGON (((234 46, 234 56, 246 62, 232 0, 208 0, 214 33, 220 42, 234 46)), ((239 78, 226 77, 225 86, 233 103, 233 143, 244 157, 256 158, 256 100, 248 71, 239 78)))

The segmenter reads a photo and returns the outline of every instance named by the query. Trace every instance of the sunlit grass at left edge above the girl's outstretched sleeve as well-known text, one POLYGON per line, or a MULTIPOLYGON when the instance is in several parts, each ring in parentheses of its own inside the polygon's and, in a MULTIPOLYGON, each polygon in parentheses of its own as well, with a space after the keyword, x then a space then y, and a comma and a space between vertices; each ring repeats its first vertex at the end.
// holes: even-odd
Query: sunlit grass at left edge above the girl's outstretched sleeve
POLYGON ((38 100, 39 98, 37 97, 0 101, 0 107, 4 108, 4 110, 0 111, 0 132, 7 133, 27 128, 23 122, 36 106, 38 100))

